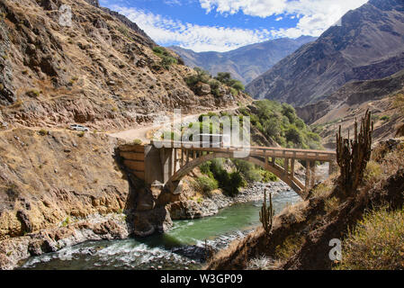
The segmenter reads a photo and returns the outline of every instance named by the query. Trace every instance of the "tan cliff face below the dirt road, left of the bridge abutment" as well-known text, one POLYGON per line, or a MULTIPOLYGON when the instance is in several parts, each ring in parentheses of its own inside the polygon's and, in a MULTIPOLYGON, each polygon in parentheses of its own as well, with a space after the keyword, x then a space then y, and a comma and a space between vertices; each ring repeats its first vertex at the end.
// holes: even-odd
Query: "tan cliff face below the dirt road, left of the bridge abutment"
POLYGON ((130 208, 130 187, 102 134, 15 129, 0 137, 0 240, 68 217, 130 208))

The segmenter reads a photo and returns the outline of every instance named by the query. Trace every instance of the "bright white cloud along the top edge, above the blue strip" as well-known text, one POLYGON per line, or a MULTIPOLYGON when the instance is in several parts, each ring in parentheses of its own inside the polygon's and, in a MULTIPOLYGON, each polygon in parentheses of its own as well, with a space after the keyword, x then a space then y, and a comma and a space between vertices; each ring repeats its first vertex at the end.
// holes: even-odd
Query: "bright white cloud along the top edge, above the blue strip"
MULTIPOLYGON (((297 15, 299 23, 290 29, 274 31, 277 36, 319 36, 349 10, 367 0, 199 0, 206 13, 237 14, 266 18, 273 15, 297 15)), ((293 18, 292 18, 293 19, 293 18)))

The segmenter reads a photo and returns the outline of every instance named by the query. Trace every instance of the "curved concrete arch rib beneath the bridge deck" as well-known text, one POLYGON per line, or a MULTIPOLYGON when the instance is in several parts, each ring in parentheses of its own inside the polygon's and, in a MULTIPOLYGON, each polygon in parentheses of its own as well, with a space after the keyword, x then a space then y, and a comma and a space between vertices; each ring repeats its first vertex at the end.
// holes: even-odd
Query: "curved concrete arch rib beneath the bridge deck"
MULTIPOLYGON (((197 166, 200 166, 202 163, 210 161, 214 158, 233 158, 232 155, 227 152, 212 152, 204 155, 200 155, 199 157, 194 158, 192 161, 186 163, 184 166, 181 166, 175 173, 172 175, 168 181, 166 182, 166 188, 170 191, 175 191, 176 187, 180 183, 181 179, 189 174, 193 169, 197 166)), ((261 166, 267 171, 273 173, 278 178, 280 178, 285 184, 288 184, 292 190, 298 193, 302 198, 305 198, 307 191, 305 189, 304 184, 301 184, 301 181, 294 176, 294 173, 289 173, 287 168, 283 168, 282 166, 277 165, 276 163, 265 161, 265 157, 259 156, 248 156, 243 158, 238 158, 240 160, 245 160, 250 163, 256 164, 257 166, 261 166)))

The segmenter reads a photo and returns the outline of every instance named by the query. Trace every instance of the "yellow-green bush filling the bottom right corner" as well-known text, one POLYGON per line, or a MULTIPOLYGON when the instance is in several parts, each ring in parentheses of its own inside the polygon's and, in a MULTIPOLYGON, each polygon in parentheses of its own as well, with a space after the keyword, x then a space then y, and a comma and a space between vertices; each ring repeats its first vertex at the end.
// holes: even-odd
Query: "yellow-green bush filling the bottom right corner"
POLYGON ((337 269, 404 269, 404 210, 382 208, 365 214, 342 247, 337 269))

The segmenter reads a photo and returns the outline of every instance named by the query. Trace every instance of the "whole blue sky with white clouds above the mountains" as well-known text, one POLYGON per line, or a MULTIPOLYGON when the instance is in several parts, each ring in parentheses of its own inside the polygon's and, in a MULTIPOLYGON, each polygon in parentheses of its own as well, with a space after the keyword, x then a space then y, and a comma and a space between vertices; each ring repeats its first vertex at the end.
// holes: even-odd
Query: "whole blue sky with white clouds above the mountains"
POLYGON ((367 0, 100 0, 162 46, 228 51, 281 37, 319 36, 367 0))

